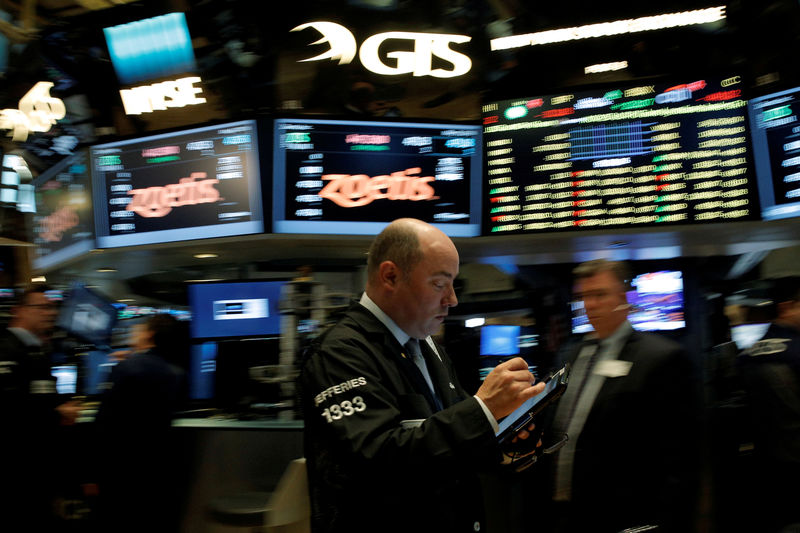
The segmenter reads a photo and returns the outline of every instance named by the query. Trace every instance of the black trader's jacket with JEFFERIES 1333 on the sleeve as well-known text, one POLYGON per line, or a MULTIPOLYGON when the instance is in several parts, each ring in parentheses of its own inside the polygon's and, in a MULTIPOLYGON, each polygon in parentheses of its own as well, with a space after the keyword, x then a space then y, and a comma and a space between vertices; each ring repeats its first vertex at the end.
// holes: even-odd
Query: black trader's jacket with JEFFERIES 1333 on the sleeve
POLYGON ((299 380, 314 531, 475 531, 478 470, 499 449, 452 364, 420 342, 444 408, 389 330, 351 307, 306 354, 299 380), (424 422, 423 422, 424 420, 424 422))

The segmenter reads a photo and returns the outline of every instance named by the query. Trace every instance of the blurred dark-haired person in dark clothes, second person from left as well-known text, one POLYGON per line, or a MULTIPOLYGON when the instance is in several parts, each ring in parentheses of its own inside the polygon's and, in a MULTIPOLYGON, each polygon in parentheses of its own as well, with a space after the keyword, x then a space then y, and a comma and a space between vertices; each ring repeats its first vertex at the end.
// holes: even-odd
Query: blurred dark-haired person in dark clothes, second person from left
POLYGON ((185 399, 185 325, 168 314, 133 326, 95 419, 102 452, 100 523, 108 531, 176 531, 177 450, 172 419, 185 399))

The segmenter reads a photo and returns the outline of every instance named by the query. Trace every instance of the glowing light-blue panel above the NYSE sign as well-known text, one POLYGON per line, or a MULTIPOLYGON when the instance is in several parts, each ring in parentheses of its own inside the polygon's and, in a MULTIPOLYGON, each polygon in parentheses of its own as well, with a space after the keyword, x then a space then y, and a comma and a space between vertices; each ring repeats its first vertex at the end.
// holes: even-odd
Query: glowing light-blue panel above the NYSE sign
POLYGON ((170 13, 104 28, 111 63, 122 84, 195 70, 186 17, 170 13))

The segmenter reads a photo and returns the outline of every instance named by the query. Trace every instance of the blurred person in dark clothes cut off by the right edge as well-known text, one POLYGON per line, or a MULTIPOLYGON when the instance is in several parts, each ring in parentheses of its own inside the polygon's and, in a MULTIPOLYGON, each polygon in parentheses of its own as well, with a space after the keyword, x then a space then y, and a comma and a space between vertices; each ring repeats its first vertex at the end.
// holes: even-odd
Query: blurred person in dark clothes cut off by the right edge
POLYGON ((800 529, 800 276, 772 284, 776 317, 737 361, 756 459, 749 518, 765 533, 800 529))

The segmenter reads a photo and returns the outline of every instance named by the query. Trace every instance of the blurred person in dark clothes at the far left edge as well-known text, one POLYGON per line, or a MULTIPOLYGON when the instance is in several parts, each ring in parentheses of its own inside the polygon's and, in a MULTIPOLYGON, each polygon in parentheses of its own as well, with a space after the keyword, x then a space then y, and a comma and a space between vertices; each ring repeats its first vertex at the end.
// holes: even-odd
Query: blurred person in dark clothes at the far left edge
POLYGON ((0 333, 0 508, 3 520, 36 528, 57 524, 57 443, 80 403, 58 394, 51 374, 50 337, 58 316, 49 287, 23 291, 0 333))

